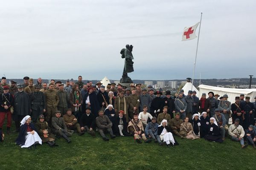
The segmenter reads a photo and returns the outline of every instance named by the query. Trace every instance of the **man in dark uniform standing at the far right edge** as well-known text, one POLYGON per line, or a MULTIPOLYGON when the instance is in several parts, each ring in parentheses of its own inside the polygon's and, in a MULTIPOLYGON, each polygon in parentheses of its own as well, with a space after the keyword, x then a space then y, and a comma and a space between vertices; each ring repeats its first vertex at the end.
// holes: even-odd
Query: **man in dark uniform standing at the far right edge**
POLYGON ((248 129, 249 125, 254 125, 255 122, 255 108, 252 102, 250 102, 250 97, 245 97, 245 103, 244 103, 244 122, 243 127, 245 130, 248 129))

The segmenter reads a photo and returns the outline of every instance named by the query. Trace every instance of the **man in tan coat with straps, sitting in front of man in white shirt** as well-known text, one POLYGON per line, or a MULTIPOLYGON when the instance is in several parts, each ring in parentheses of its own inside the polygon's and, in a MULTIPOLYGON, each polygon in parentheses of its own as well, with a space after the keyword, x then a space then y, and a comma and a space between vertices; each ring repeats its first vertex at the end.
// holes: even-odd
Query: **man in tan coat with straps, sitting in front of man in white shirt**
POLYGON ((143 123, 138 118, 138 113, 134 113, 134 118, 128 123, 128 132, 134 136, 137 143, 141 144, 140 139, 149 143, 151 139, 147 139, 144 133, 143 123))

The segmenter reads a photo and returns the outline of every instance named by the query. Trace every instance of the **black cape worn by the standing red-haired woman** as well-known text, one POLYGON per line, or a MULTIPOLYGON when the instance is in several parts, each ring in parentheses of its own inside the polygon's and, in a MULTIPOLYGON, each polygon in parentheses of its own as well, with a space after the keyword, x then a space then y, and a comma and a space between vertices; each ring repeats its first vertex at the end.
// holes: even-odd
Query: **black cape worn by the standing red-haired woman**
POLYGON ((95 117, 98 117, 99 116, 98 111, 100 110, 100 107, 99 107, 99 102, 98 102, 98 99, 97 99, 95 91, 93 91, 91 94, 88 94, 88 93, 85 94, 84 100, 83 100, 83 102, 84 102, 83 112, 85 111, 85 108, 86 108, 85 101, 86 101, 88 96, 89 96, 89 99, 90 99, 91 113, 93 113, 95 117))

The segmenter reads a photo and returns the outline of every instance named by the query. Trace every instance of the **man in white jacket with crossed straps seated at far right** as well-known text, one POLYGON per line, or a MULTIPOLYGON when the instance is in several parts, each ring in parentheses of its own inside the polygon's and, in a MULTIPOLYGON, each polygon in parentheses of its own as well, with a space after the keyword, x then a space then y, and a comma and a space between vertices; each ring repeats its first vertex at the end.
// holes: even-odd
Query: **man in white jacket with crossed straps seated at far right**
POLYGON ((244 128, 239 125, 240 120, 236 119, 233 125, 230 125, 228 128, 228 133, 231 137, 231 140, 240 142, 241 147, 247 147, 248 144, 244 144, 244 128))

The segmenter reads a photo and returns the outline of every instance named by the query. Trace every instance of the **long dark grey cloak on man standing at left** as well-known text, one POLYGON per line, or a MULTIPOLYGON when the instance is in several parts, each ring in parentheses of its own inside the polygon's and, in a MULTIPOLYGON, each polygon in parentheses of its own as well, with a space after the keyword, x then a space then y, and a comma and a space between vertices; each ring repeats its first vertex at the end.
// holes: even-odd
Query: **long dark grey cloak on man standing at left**
POLYGON ((14 113, 13 115, 26 116, 30 114, 30 98, 29 95, 22 91, 14 94, 14 113))

